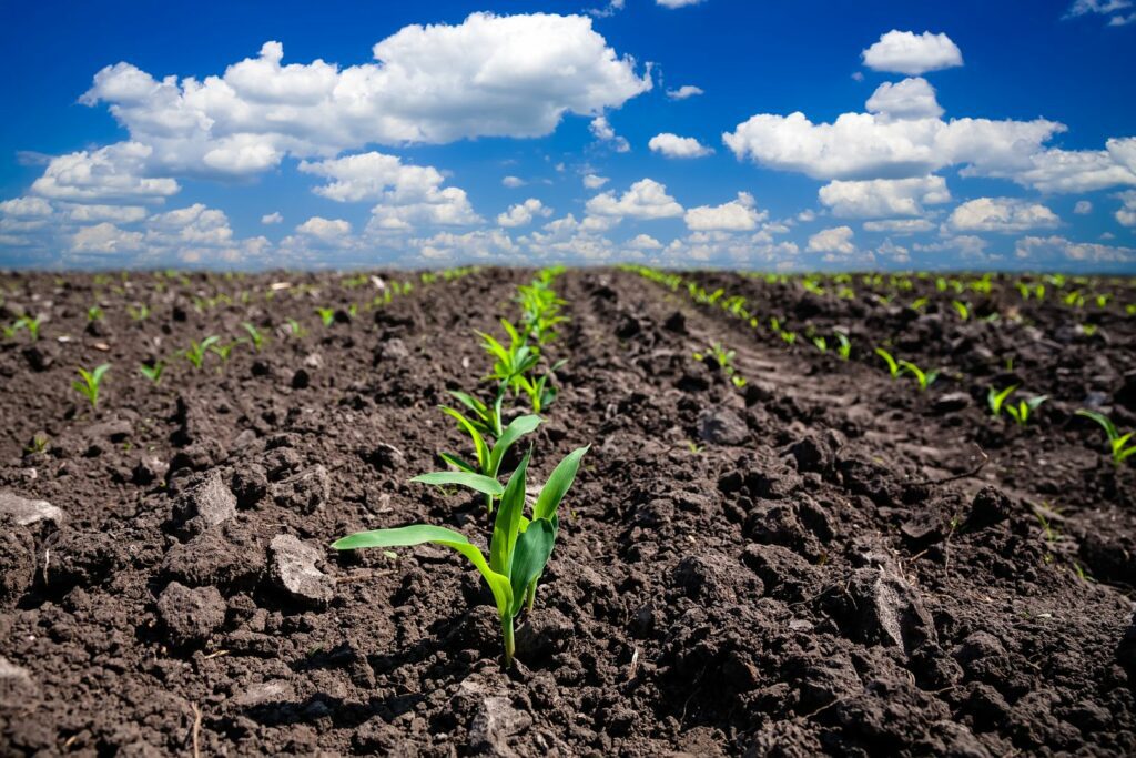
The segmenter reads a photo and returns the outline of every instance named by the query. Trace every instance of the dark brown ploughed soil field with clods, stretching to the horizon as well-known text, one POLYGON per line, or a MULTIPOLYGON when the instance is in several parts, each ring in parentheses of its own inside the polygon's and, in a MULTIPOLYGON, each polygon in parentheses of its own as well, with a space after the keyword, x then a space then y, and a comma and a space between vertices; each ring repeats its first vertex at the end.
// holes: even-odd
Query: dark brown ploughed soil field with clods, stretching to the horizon
POLYGON ((1136 425, 1134 282, 548 272, 501 483, 591 448, 506 668, 465 558, 331 544, 486 544, 410 480, 536 276, 5 275, 0 753, 1136 752, 1136 457, 1077 413, 1136 425))

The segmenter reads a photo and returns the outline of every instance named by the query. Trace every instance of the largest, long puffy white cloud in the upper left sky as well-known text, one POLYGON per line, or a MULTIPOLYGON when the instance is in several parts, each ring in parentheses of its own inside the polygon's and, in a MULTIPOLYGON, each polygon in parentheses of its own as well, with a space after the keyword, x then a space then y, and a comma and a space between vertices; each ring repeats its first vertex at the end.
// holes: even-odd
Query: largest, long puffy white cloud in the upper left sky
POLYGON ((203 80, 161 81, 120 63, 83 95, 105 102, 153 170, 245 175, 284 156, 331 157, 366 144, 446 143, 551 133, 566 114, 618 108, 651 89, 586 16, 473 14, 458 25, 406 26, 375 63, 283 65, 256 58, 203 80))

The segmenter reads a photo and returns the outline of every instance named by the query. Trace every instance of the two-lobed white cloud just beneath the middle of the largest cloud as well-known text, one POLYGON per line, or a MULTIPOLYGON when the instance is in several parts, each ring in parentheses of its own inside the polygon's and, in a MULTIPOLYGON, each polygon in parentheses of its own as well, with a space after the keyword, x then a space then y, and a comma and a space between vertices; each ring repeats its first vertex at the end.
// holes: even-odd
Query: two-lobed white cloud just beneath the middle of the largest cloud
POLYGON ((300 170, 332 180, 312 191, 339 202, 377 200, 371 223, 382 228, 410 228, 415 224, 475 224, 481 217, 466 191, 442 188, 445 177, 432 166, 408 166, 395 156, 362 152, 303 161, 300 170))

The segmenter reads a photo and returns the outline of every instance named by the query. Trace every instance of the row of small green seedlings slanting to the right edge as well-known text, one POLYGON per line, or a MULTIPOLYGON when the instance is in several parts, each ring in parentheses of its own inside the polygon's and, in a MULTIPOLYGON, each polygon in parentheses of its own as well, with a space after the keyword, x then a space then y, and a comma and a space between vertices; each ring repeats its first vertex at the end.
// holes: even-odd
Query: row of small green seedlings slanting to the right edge
MULTIPOLYGON (((686 291, 690 298, 698 305, 708 306, 713 308, 719 308, 733 317, 747 323, 752 328, 761 328, 763 322, 755 314, 751 313, 747 308, 745 298, 741 295, 727 295, 722 289, 717 289, 715 291, 707 291, 698 282, 686 280, 679 274, 673 272, 661 272, 646 266, 623 266, 624 270, 637 274, 643 278, 646 278, 657 284, 668 288, 674 292, 686 291)), ((785 276, 785 275, 771 275, 771 276, 785 276)), ((875 274, 871 275, 874 278, 879 278, 883 275, 875 274)), ((1060 276, 1060 275, 1055 275, 1060 276)), ((834 275, 834 280, 841 280, 842 277, 851 277, 851 275, 837 274, 834 275)), ((893 281, 896 280, 895 276, 892 277, 893 281)), ((988 291, 993 275, 984 275, 982 277, 971 280, 969 285, 977 288, 979 291, 988 291)), ((899 280, 899 281, 910 281, 910 280, 899 280)), ((939 282, 945 282, 939 277, 939 282)), ((959 280, 951 280, 953 282, 959 282, 959 280)), ((1061 284, 1064 284, 1064 277, 1061 277, 1061 284)), ((955 301, 958 302, 958 301, 955 301)), ((961 305, 961 303, 960 303, 961 305)), ((960 315, 966 319, 969 317, 966 307, 958 308, 960 315)), ((772 316, 769 319, 769 328, 774 334, 777 334, 782 341, 787 345, 792 347, 797 342, 797 333, 786 330, 782 323, 782 319, 772 316)), ((809 327, 811 330, 811 326, 809 327)), ((820 352, 828 352, 832 347, 825 335, 817 334, 815 331, 807 331, 805 336, 811 344, 813 344, 820 352)), ((834 338, 836 340, 836 355, 841 360, 849 360, 852 357, 852 342, 847 334, 835 331, 834 338)), ((911 376, 916 385, 920 391, 927 391, 932 384, 939 377, 942 369, 939 368, 924 368, 916 365, 911 360, 896 358, 884 347, 875 347, 874 355, 876 355, 886 368, 888 375, 893 380, 899 380, 902 376, 911 376)), ((736 370, 733 367, 734 351, 727 351, 720 345, 713 349, 712 353, 717 363, 727 370, 727 375, 734 381, 735 384, 742 386, 744 380, 740 384, 737 381, 736 370)), ((696 359, 702 359, 700 355, 695 355, 696 359)), ((1036 411, 1043 403, 1049 400, 1047 395, 1033 395, 1029 398, 1017 398, 1011 400, 1013 395, 1020 388, 1018 385, 1010 385, 1006 388, 988 388, 987 392, 987 406, 991 410, 991 416, 993 418, 1000 418, 1003 414, 1009 416, 1019 426, 1026 426, 1031 418, 1035 418, 1034 411, 1036 411)), ((1096 424, 1099 424, 1105 432, 1109 439, 1110 452, 1113 464, 1120 466, 1129 457, 1136 455, 1136 431, 1128 432, 1127 434, 1121 433, 1116 424, 1109 419, 1103 414, 1094 410, 1079 409, 1076 411, 1078 416, 1088 418, 1096 424)))

